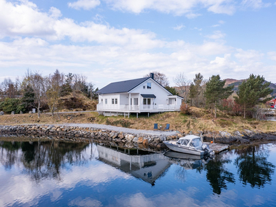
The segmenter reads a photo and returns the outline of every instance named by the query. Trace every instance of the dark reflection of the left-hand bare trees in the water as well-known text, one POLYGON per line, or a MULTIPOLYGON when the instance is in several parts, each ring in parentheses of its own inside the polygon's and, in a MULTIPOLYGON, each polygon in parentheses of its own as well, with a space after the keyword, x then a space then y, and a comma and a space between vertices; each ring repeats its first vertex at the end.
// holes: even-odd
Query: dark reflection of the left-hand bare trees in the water
POLYGON ((35 181, 47 177, 61 179, 60 169, 66 164, 84 164, 83 149, 87 143, 64 143, 59 141, 2 141, 0 161, 6 170, 23 164, 23 172, 35 181))

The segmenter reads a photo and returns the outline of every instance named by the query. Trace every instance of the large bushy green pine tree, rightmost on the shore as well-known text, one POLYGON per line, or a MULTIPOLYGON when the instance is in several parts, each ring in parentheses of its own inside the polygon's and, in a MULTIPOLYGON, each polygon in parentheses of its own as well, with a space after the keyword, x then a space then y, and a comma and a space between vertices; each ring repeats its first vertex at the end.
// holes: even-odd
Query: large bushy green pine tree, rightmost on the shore
POLYGON ((246 81, 243 81, 237 90, 237 97, 235 101, 242 105, 244 109, 244 119, 246 118, 246 111, 252 110, 254 106, 259 103, 266 103, 268 99, 265 97, 273 92, 268 88, 270 82, 266 82, 264 77, 251 74, 246 81))

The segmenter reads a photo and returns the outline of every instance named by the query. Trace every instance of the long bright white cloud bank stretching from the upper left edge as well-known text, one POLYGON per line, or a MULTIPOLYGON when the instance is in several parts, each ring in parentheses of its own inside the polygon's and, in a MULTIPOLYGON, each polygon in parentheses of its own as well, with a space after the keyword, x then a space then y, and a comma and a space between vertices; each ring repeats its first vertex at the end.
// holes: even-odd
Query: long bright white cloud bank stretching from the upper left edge
POLYGON ((0 0, 0 38, 27 36, 57 41, 68 37, 74 42, 129 44, 131 48, 141 49, 164 44, 155 39, 153 32, 117 29, 93 21, 76 23, 73 19, 60 17, 61 12, 57 8, 52 7, 48 12, 41 12, 29 1, 15 4, 0 0))

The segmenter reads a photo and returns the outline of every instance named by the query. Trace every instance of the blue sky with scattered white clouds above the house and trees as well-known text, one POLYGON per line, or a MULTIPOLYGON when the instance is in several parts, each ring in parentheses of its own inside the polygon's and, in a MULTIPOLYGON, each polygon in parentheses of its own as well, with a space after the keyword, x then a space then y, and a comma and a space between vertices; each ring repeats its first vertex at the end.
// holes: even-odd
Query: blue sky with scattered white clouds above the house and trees
POLYGON ((276 1, 0 0, 0 81, 85 75, 102 88, 164 73, 276 83, 276 1))

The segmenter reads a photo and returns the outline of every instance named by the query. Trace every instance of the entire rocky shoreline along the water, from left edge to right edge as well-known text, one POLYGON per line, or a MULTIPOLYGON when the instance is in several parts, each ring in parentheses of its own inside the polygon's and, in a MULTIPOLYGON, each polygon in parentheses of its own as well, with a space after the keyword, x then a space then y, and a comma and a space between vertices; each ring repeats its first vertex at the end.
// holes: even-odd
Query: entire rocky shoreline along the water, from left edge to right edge
MULTIPOLYGON (((262 133, 252 130, 244 130, 244 132, 210 132, 197 131, 189 132, 189 134, 201 136, 204 141, 214 141, 220 144, 250 144, 252 141, 276 141, 276 132, 262 133)), ((175 135, 149 135, 146 133, 125 133, 115 130, 106 130, 92 127, 78 126, 57 126, 57 125, 16 125, 16 126, 0 126, 0 135, 34 135, 55 137, 55 139, 66 141, 89 141, 97 140, 99 142, 112 142, 117 146, 132 148, 134 146, 149 146, 152 148, 166 148, 163 141, 177 140, 186 134, 175 132, 175 135)))

